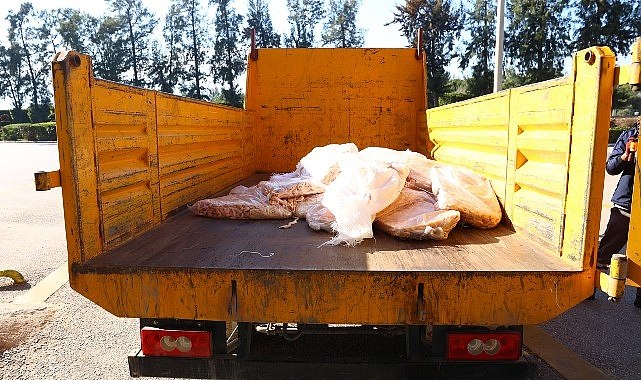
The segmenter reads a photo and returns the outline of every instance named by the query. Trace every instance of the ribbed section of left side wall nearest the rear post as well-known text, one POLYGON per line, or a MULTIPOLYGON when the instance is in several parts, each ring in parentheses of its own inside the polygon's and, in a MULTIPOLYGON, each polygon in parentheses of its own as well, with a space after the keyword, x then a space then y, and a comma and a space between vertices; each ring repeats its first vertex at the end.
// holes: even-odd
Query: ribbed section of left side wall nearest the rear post
POLYGON ((92 116, 106 249, 160 222, 155 96, 97 80, 92 116))

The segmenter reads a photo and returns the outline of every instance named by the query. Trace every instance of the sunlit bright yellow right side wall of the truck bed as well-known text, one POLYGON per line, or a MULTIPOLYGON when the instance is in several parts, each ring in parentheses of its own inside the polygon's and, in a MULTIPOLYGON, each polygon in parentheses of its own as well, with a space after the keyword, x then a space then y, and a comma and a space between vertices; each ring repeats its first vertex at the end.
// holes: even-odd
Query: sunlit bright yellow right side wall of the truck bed
POLYGON ((565 78, 427 111, 435 159, 490 179, 514 229, 577 270, 594 266, 614 55, 575 55, 565 78))

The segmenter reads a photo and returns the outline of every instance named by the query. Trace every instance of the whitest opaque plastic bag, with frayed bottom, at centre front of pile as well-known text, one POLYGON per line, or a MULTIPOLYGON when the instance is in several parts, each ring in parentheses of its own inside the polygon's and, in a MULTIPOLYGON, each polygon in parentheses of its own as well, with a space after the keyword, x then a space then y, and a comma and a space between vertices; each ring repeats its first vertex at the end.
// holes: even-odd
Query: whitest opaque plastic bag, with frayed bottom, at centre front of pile
POLYGON ((402 164, 350 158, 340 162, 341 171, 323 197, 322 204, 336 218, 336 235, 326 244, 354 246, 373 237, 376 213, 398 197, 409 173, 402 164))

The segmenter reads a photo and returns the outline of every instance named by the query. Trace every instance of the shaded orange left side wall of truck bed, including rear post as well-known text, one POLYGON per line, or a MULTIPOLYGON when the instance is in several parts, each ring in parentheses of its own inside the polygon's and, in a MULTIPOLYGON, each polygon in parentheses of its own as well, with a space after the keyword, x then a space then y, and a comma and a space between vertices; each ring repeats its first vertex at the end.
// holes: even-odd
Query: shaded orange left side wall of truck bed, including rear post
POLYGON ((70 265, 254 172, 242 109, 95 79, 75 52, 53 73, 70 265))

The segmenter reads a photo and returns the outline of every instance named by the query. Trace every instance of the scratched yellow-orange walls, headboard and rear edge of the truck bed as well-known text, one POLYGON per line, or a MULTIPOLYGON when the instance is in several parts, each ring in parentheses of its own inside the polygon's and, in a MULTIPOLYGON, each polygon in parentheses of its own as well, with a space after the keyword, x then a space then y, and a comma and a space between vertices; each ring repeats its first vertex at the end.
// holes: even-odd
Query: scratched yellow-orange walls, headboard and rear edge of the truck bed
POLYGON ((424 61, 413 49, 260 49, 249 61, 244 110, 95 79, 88 56, 60 57, 53 69, 71 284, 123 317, 454 325, 553 318, 594 284, 613 57, 593 53, 592 63, 579 53, 568 77, 427 112, 424 61), (487 176, 525 241, 574 270, 83 267, 189 202, 256 171, 290 171, 313 147, 343 142, 431 153, 487 176))

